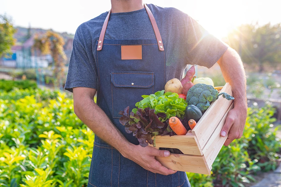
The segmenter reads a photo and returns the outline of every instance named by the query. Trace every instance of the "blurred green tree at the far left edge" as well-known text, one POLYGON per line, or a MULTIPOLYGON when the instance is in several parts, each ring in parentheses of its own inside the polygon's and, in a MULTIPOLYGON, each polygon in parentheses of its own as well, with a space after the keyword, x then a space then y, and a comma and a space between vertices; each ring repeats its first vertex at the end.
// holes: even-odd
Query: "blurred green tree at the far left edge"
POLYGON ((4 54, 11 53, 11 47, 16 41, 13 38, 15 32, 11 19, 6 15, 0 15, 0 58, 4 54))

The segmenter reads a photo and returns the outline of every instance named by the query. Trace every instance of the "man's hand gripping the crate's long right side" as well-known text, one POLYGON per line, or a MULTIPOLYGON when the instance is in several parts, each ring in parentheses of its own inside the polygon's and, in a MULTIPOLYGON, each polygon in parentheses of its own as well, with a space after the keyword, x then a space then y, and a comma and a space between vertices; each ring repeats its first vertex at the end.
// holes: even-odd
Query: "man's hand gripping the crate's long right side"
POLYGON ((234 139, 241 138, 246 123, 247 107, 234 107, 227 114, 225 124, 222 127, 220 135, 225 137, 228 133, 228 137, 224 143, 228 146, 234 139))

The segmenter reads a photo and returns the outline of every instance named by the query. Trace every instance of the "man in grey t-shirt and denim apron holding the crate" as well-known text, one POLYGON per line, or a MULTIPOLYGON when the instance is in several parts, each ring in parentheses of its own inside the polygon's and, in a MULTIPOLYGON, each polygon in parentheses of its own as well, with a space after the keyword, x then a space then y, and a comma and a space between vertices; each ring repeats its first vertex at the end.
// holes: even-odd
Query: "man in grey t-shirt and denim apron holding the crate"
POLYGON ((142 0, 111 4, 110 12, 78 27, 65 85, 73 91, 74 112, 95 133, 88 186, 190 186, 185 172, 155 160, 169 151, 138 145, 119 123, 118 112, 132 109, 141 95, 164 89, 169 79, 181 79, 186 65, 212 67, 217 62, 235 98, 221 131, 221 136, 229 133, 228 146, 241 137, 246 121, 240 57, 175 8, 142 0))

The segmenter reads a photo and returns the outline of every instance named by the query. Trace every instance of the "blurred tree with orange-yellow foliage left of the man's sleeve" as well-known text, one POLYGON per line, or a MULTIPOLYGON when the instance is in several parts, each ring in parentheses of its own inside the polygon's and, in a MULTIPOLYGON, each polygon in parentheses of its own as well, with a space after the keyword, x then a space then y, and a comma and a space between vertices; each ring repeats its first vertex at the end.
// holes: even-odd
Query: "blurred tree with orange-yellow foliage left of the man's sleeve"
POLYGON ((39 50, 42 54, 51 54, 54 59, 54 86, 58 87, 64 79, 64 38, 53 31, 47 31, 42 36, 35 36, 33 50, 39 50))

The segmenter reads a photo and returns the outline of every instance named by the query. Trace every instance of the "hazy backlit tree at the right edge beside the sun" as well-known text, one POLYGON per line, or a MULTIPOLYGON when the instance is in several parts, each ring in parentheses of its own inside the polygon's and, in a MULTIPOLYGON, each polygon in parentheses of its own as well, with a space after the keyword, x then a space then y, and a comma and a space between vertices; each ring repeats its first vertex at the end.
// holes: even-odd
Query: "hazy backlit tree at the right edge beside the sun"
POLYGON ((260 72, 267 64, 275 67, 281 63, 281 23, 241 25, 229 33, 227 43, 244 63, 258 66, 260 72))

